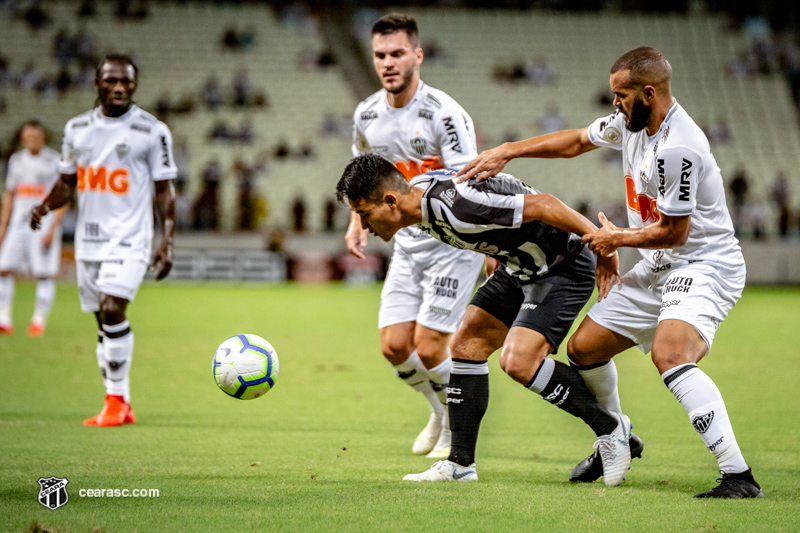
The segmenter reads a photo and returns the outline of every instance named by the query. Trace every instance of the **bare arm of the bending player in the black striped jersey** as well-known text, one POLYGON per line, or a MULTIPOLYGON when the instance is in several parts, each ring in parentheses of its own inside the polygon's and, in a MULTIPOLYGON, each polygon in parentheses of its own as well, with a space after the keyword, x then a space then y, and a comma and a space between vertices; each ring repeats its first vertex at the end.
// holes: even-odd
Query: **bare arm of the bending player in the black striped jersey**
MULTIPOLYGON (((605 217, 604 217, 605 218, 605 217)), ((549 226, 584 237, 594 234, 597 227, 552 194, 526 194, 522 221, 540 220, 549 226)), ((584 237, 585 239, 585 237, 584 237)), ((594 250, 592 250, 594 251, 594 250)), ((597 253, 597 252, 595 252, 597 253)), ((598 300, 608 295, 615 283, 620 283, 619 255, 615 250, 597 257, 598 300)))

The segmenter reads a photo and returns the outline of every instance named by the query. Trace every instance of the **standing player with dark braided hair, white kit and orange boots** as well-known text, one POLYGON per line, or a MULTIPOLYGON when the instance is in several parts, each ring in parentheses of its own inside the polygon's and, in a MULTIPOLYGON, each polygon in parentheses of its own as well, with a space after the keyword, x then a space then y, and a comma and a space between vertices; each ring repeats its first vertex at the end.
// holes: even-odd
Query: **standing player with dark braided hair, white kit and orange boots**
POLYGON ((133 333, 126 309, 150 262, 154 204, 162 238, 151 270, 161 280, 172 268, 177 175, 172 136, 133 103, 137 80, 128 56, 108 55, 98 65, 100 105, 67 122, 59 180, 31 211, 31 227, 38 229, 42 218, 78 189, 78 290, 81 309, 97 318, 97 363, 106 387, 102 411, 84 420, 86 426, 135 422, 128 378, 133 333))

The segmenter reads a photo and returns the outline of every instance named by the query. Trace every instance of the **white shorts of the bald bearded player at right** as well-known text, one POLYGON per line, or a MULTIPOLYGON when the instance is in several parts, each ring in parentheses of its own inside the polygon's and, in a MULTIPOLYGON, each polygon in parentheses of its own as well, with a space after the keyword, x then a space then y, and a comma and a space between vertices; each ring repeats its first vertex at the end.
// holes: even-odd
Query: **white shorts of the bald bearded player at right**
POLYGON ((719 265, 699 261, 653 272, 640 261, 622 276, 622 285, 592 306, 589 317, 644 353, 653 347, 659 322, 682 320, 695 327, 710 350, 717 328, 742 296, 745 276, 744 264, 721 272, 719 265))

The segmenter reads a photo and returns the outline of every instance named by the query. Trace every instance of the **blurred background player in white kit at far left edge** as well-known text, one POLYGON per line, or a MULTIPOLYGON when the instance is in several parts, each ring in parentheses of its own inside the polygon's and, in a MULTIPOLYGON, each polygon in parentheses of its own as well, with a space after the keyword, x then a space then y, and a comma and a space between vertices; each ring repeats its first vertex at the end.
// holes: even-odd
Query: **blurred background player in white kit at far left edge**
POLYGON ((14 272, 30 272, 36 279, 36 305, 28 335, 44 334, 47 315, 56 296, 61 261, 61 219, 66 206, 43 220, 43 231, 28 226, 31 208, 41 202, 58 179, 58 152, 46 146, 47 134, 37 121, 20 130, 23 150, 8 161, 6 189, 0 207, 0 335, 14 331, 11 308, 14 272))

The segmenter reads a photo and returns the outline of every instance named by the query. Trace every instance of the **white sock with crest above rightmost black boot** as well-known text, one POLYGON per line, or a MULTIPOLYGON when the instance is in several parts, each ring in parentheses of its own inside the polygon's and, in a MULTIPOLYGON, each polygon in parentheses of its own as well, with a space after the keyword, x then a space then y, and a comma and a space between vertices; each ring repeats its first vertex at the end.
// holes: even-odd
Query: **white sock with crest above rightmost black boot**
POLYGON ((717 458, 719 469, 726 474, 747 470, 722 394, 711 378, 692 363, 667 370, 661 378, 686 409, 695 431, 717 458))

